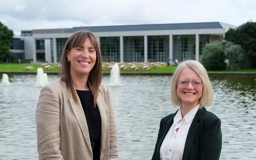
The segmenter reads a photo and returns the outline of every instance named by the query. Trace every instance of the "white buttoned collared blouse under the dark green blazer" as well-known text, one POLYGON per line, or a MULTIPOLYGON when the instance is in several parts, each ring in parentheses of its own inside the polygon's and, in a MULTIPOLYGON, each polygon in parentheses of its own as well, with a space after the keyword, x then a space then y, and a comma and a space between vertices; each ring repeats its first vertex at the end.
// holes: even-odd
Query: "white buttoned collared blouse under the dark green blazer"
POLYGON ((188 130, 199 106, 200 104, 194 107, 184 118, 182 118, 181 110, 178 110, 161 145, 160 160, 182 160, 188 130))

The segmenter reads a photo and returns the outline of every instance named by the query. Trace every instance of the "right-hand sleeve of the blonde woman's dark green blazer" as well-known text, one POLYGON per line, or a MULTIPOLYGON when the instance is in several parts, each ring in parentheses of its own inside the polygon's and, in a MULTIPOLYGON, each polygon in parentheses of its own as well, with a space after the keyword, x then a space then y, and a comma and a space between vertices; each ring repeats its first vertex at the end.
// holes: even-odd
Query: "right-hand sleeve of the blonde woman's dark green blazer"
POLYGON ((219 160, 222 148, 221 120, 213 118, 203 130, 201 160, 219 160))

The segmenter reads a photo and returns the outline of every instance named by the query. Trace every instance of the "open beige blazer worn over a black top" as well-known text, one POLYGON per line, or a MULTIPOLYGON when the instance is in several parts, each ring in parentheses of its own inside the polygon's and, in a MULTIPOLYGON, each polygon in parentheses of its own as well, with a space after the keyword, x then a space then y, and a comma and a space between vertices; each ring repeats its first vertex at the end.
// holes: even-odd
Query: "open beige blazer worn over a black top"
MULTIPOLYGON (((78 95, 76 95, 78 96, 78 95)), ((110 88, 101 83, 97 106, 101 115, 101 160, 118 159, 117 125, 110 88)), ((39 160, 93 160, 82 104, 65 82, 54 81, 41 90, 36 108, 39 160)))

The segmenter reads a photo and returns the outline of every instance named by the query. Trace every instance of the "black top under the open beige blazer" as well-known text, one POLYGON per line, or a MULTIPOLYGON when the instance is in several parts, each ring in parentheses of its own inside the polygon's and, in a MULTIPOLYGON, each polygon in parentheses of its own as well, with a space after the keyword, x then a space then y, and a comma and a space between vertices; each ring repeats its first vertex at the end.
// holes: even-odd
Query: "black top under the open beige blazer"
POLYGON ((85 114, 91 147, 93 149, 93 160, 99 160, 101 149, 101 115, 98 106, 93 105, 93 94, 91 91, 76 90, 85 114))

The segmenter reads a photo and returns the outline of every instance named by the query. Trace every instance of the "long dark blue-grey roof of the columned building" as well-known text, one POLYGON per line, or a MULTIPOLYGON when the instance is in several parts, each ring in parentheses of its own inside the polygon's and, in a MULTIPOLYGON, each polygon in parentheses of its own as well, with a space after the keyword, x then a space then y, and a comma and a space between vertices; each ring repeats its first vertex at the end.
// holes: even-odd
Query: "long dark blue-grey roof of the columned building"
POLYGON ((67 33, 74 33, 79 30, 89 30, 92 32, 114 32, 114 31, 145 31, 145 30, 189 30, 189 29, 210 29, 210 28, 236 28, 230 24, 220 22, 204 23, 174 23, 174 24, 140 24, 124 26, 91 26, 73 27, 67 33))

